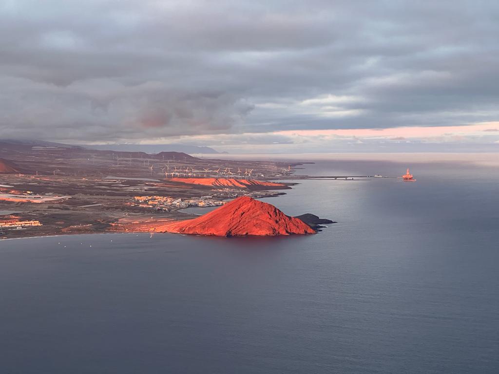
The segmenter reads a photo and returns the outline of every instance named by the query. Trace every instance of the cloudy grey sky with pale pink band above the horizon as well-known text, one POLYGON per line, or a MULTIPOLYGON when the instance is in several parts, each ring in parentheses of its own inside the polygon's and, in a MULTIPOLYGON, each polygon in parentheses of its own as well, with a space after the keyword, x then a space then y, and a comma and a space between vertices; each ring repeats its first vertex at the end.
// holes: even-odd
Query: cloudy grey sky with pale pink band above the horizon
POLYGON ((0 1, 0 136, 499 150, 499 1, 0 1))

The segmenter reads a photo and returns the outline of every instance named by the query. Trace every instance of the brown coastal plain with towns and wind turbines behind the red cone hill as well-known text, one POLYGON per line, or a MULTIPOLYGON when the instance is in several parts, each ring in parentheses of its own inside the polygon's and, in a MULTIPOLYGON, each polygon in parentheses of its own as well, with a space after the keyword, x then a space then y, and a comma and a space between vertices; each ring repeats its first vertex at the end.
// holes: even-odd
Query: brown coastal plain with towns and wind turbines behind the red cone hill
POLYGON ((282 195, 295 183, 275 180, 299 165, 0 140, 0 239, 172 223, 187 207, 282 195))

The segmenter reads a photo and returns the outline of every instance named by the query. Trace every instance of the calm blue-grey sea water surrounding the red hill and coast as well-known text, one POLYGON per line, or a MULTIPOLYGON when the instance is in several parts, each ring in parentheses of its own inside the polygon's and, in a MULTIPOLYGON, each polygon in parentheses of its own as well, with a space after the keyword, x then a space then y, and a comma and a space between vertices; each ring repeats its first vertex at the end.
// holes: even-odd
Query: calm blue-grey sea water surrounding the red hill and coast
POLYGON ((497 169, 411 167, 265 199, 313 236, 0 241, 0 372, 497 374, 497 169))

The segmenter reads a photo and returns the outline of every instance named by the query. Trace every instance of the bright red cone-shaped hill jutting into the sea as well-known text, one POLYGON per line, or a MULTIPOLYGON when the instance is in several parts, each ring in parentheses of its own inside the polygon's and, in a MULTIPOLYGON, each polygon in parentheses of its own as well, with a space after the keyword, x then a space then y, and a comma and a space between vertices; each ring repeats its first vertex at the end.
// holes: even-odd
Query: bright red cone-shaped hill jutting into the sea
POLYGON ((289 217, 275 206, 249 196, 238 197, 198 218, 156 226, 155 231, 214 236, 315 233, 302 220, 289 217))

